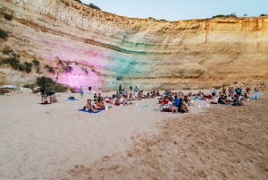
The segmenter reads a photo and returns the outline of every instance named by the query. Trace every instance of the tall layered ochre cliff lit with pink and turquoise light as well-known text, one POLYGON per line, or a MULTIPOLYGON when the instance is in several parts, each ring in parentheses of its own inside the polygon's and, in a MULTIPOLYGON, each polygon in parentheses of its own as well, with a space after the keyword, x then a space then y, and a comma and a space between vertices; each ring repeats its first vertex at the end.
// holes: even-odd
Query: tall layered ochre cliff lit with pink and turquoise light
POLYGON ((268 79, 268 16, 155 21, 96 11, 72 0, 2 0, 0 7, 0 26, 9 33, 1 48, 11 47, 21 61, 36 58, 57 72, 43 68, 27 78, 10 77, 1 66, 2 84, 33 83, 45 75, 85 89, 115 90, 121 83, 123 89, 164 90, 268 79), (55 59, 69 62, 71 73, 60 71, 55 59))

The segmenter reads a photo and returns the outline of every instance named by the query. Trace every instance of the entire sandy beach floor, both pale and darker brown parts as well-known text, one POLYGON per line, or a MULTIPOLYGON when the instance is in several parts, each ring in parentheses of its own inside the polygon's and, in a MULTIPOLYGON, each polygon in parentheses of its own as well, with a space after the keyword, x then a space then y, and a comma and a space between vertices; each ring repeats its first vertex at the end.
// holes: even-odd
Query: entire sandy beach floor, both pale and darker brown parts
POLYGON ((93 94, 59 94, 37 106, 35 94, 0 97, 0 179, 268 178, 263 96, 245 107, 195 101, 190 114, 155 111, 157 99, 88 114, 78 109, 93 94))

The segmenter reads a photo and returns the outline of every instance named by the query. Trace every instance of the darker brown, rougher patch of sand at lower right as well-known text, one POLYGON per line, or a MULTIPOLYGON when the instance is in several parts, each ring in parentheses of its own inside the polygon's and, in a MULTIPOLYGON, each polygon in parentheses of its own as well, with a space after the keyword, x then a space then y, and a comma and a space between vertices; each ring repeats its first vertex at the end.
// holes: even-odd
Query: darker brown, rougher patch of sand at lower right
POLYGON ((124 153, 80 163, 67 179, 268 179, 268 103, 214 106, 132 137, 124 153))

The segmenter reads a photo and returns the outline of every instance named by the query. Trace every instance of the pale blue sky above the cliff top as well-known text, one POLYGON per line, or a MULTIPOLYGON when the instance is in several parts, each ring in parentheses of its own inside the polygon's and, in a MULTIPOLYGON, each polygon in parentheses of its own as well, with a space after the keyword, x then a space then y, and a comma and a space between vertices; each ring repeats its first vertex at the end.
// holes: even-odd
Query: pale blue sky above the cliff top
POLYGON ((117 15, 167 21, 211 18, 217 14, 238 16, 268 14, 268 0, 81 0, 117 15))

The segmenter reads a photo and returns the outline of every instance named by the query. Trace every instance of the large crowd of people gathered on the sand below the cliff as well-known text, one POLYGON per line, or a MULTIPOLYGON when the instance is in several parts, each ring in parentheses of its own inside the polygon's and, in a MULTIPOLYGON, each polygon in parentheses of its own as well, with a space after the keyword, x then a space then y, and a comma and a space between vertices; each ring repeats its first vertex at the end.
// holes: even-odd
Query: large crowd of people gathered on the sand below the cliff
MULTIPOLYGON (((81 90, 81 97, 83 96, 83 89, 81 90)), ((246 92, 243 94, 242 88, 229 87, 227 90, 225 87, 222 87, 222 90, 219 90, 219 95, 216 95, 216 90, 214 87, 211 89, 211 94, 205 95, 204 92, 199 91, 198 93, 184 94, 183 92, 172 92, 171 90, 164 90, 162 94, 159 93, 159 90, 148 91, 144 93, 143 90, 138 90, 138 87, 135 86, 134 92, 130 94, 125 94, 124 90, 121 90, 121 84, 119 90, 116 94, 113 94, 112 97, 102 97, 101 93, 94 94, 94 99, 88 99, 87 104, 84 107, 85 109, 97 111, 103 109, 110 105, 114 106, 126 106, 133 104, 133 100, 142 100, 142 99, 154 99, 158 97, 158 103, 162 105, 161 111, 172 112, 172 113, 188 113, 189 106, 193 105, 192 99, 212 99, 214 97, 218 98, 218 104, 228 104, 232 106, 244 106, 243 100, 249 99, 247 93, 249 93, 249 88, 246 89, 246 92), (229 92, 229 93, 228 93, 229 92), (228 93, 228 94, 227 94, 228 93), (91 104, 94 101, 94 104, 91 104)), ((254 96, 251 99, 258 99, 257 90, 255 89, 254 96)))

